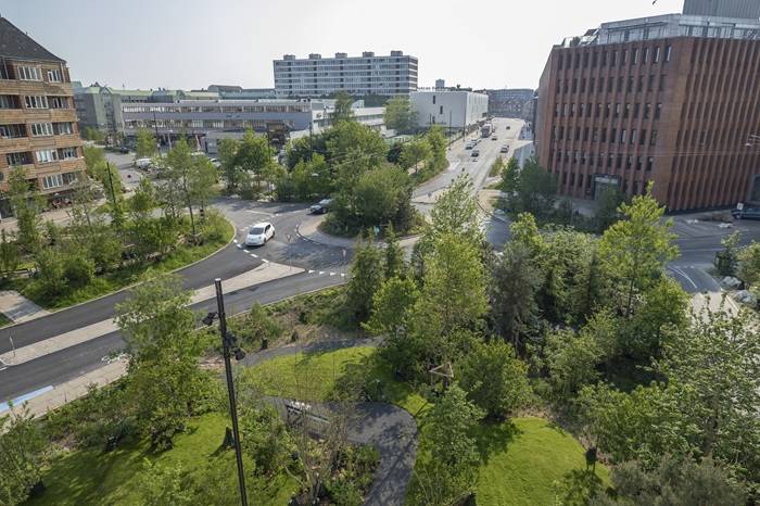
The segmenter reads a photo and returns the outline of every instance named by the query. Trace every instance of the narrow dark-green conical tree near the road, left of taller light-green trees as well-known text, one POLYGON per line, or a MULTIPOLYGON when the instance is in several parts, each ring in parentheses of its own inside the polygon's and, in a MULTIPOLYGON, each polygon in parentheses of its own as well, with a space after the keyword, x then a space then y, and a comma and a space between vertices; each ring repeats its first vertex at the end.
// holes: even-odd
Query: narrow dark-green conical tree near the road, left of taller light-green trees
POLYGON ((349 279, 347 304, 357 321, 364 321, 372 311, 372 298, 385 277, 382 251, 368 242, 359 242, 354 250, 349 279))

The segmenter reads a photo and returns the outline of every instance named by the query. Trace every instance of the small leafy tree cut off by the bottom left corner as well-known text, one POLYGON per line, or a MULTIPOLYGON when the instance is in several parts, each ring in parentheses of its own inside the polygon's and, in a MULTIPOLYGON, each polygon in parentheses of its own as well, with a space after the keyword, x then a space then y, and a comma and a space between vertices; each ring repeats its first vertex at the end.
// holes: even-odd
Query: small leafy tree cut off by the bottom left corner
POLYGON ((0 417, 0 504, 25 503, 40 481, 45 438, 26 407, 0 417))

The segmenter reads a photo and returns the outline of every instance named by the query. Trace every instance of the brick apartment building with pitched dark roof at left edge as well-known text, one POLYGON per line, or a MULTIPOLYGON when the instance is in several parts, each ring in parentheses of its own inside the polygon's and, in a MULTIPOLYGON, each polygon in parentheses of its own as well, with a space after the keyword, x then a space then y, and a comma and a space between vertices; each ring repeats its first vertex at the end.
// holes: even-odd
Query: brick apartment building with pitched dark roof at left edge
POLYGON ((0 190, 18 165, 50 200, 86 177, 66 62, 0 17, 0 190))

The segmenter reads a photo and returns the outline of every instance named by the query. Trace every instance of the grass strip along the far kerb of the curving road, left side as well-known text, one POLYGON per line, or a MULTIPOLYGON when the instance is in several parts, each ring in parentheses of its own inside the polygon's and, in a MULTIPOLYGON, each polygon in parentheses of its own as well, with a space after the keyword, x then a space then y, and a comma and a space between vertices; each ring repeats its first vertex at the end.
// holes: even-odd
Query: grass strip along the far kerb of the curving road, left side
POLYGON ((235 233, 235 228, 229 222, 225 219, 223 223, 225 228, 219 236, 224 239, 208 241, 199 246, 181 245, 157 262, 132 264, 103 276, 98 276, 86 287, 77 288, 62 295, 49 296, 45 294, 41 287, 34 279, 9 281, 7 282, 7 288, 21 292, 24 296, 47 309, 62 309, 80 304, 142 281, 149 274, 169 273, 208 256, 227 244, 235 233))

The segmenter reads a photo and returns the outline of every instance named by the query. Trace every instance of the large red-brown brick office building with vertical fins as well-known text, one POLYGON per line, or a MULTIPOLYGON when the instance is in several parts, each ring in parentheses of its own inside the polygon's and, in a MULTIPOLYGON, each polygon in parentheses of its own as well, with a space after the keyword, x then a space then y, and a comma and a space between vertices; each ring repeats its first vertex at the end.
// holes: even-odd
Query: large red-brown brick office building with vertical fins
POLYGON ((638 194, 654 181, 669 211, 755 200, 758 79, 758 21, 671 14, 603 24, 549 54, 539 160, 572 197, 609 185, 638 194))

